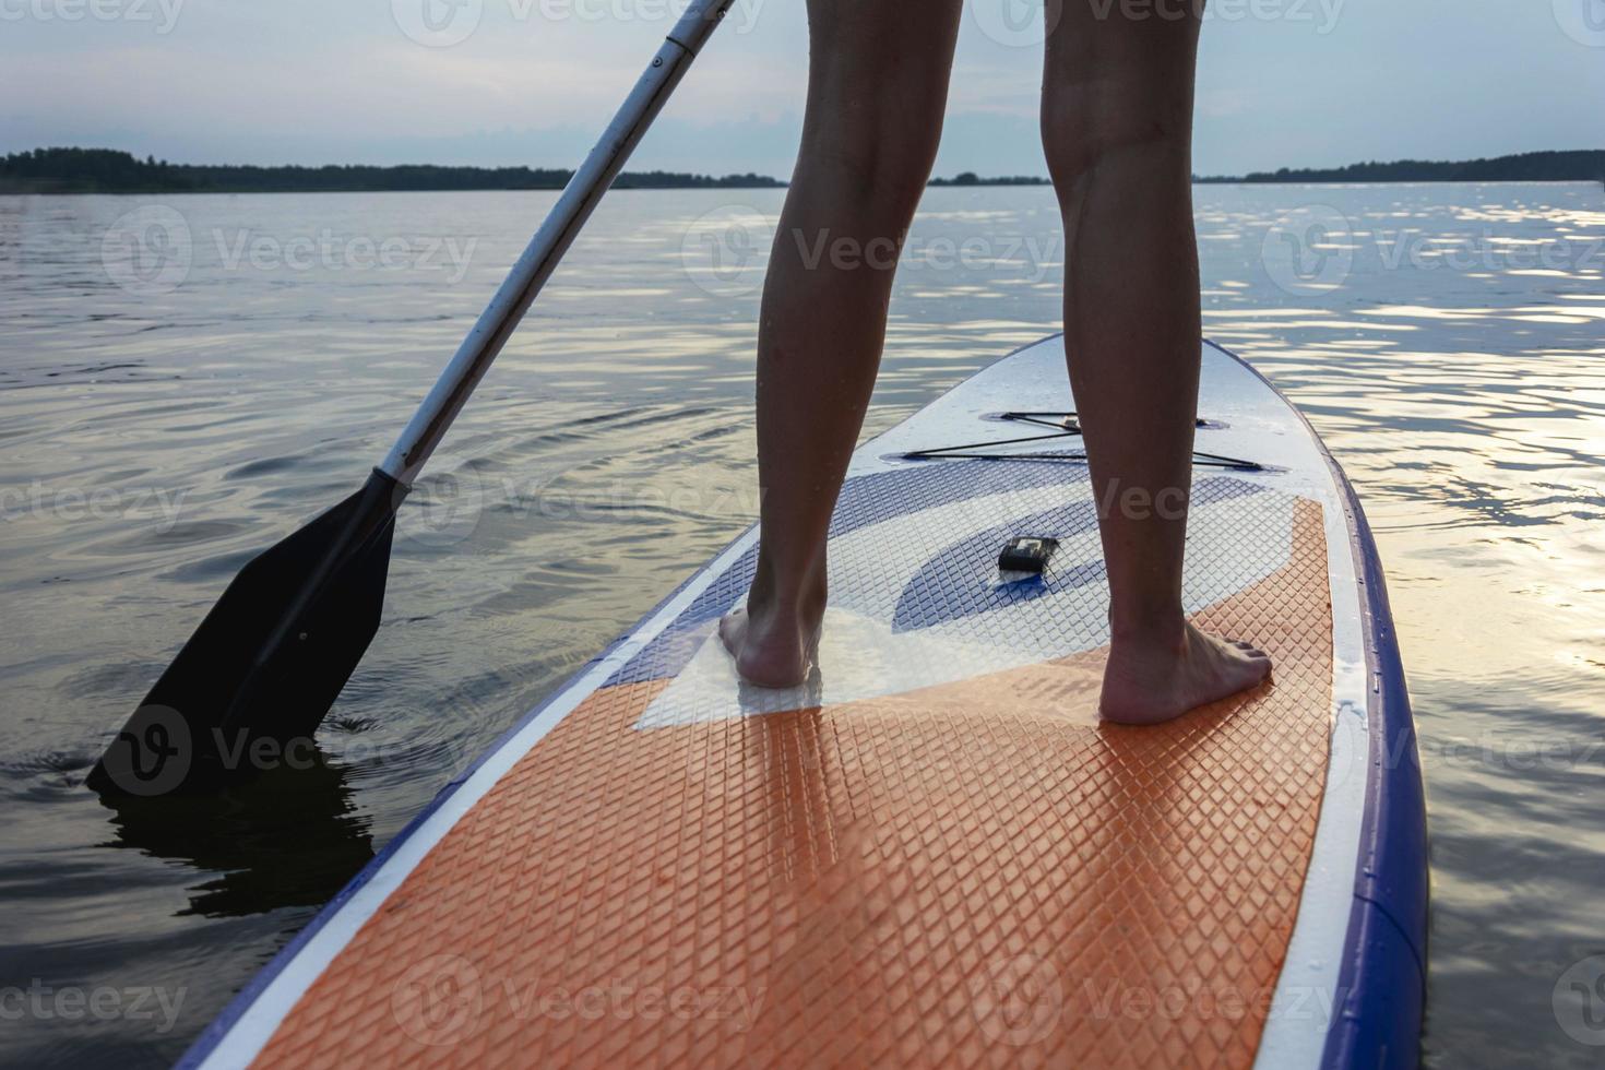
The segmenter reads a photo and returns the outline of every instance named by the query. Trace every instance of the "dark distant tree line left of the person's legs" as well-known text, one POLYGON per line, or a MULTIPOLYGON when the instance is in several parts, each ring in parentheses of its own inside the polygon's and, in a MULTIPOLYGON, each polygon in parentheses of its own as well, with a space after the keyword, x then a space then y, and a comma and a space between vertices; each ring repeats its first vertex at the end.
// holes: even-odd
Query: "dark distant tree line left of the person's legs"
MULTIPOLYGON (((549 167, 249 167, 169 164, 114 149, 34 149, 0 159, 0 193, 358 193, 424 189, 562 189, 549 167)), ((766 175, 624 172, 616 189, 766 189, 766 175)))

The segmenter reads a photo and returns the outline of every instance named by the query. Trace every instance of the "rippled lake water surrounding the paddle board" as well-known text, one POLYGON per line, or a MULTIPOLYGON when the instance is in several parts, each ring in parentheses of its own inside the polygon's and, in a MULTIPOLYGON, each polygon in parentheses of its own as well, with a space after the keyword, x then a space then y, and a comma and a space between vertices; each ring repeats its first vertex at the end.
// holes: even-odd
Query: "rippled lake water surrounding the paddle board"
MULTIPOLYGON (((403 513, 327 765, 132 810, 87 765, 254 550, 388 449, 554 196, 0 197, 0 1060, 170 1062, 753 518, 780 196, 610 197, 403 513)), ((1201 186, 1197 217, 1207 332, 1316 424, 1388 569, 1428 1062, 1599 1065, 1562 1020, 1605 998, 1562 977, 1605 953, 1605 193, 1201 186)), ((1061 278, 1050 191, 931 191, 867 430, 1056 330, 1061 278)))

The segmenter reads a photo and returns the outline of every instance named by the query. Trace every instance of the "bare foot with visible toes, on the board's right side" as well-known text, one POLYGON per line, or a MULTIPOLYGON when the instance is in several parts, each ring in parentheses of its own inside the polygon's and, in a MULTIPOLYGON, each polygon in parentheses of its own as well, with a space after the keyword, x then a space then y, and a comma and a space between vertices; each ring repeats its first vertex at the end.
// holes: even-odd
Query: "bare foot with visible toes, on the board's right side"
POLYGON ((1098 712, 1122 725, 1157 725, 1268 675, 1271 659, 1263 650, 1215 638, 1186 621, 1180 640, 1117 638, 1111 645, 1098 712))

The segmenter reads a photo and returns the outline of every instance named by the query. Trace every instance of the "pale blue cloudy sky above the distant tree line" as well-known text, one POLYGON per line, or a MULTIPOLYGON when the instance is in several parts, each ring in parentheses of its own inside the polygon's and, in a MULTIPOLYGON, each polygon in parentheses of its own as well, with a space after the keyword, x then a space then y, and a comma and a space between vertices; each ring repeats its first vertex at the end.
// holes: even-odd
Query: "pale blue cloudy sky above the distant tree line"
MULTIPOLYGON (((937 175, 1045 173, 1042 3, 965 0, 937 175)), ((0 0, 0 151, 573 167, 682 5, 0 0)), ((1605 0, 1210 0, 1199 64, 1201 175, 1605 148, 1605 0)), ((806 71, 737 0, 631 170, 790 175, 806 71)))

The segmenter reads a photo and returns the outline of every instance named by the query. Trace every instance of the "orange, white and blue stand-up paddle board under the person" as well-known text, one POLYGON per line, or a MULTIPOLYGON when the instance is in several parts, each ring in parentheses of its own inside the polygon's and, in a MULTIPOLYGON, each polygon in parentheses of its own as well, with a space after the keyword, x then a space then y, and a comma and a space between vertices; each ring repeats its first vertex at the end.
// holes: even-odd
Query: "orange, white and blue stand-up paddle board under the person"
POLYGON ((854 454, 802 687, 743 685, 714 634, 748 531, 185 1064, 1412 1064, 1420 773, 1359 504, 1205 345, 1186 608, 1274 680, 1099 723, 1098 502, 1074 415, 1042 412, 1064 359, 1016 351, 854 454), (1000 568, 1019 539, 1040 573, 1000 568))

